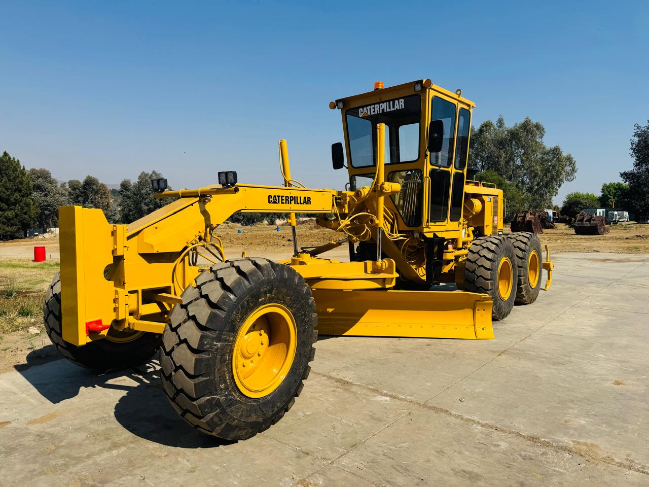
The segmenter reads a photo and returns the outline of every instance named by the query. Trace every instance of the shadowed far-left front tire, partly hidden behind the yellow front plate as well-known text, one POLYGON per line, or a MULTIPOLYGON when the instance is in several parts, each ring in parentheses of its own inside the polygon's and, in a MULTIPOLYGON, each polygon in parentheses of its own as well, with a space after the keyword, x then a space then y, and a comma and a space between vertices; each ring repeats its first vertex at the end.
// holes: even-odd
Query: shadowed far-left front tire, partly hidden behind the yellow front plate
MULTIPOLYGON (((45 295, 43 305, 45 332, 56 349, 67 360, 97 372, 137 367, 149 361, 160 346, 161 336, 156 333, 138 333, 130 341, 111 342, 108 338, 86 343, 81 347, 63 340, 61 328, 61 279, 56 273, 45 295)), ((112 331, 109 331, 111 333, 112 331)), ((119 338, 128 338, 117 332, 119 338)))

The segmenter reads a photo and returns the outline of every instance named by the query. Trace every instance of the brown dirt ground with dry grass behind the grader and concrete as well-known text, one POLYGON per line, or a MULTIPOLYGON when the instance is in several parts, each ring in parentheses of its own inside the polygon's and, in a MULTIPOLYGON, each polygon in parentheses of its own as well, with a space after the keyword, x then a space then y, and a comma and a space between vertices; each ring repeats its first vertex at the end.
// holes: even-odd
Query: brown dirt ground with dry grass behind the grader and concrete
MULTIPOLYGON (((643 254, 649 253, 649 225, 637 223, 622 223, 611 225, 611 231, 606 235, 584 236, 576 235, 569 225, 559 224, 557 229, 545 230, 539 237, 543 245, 548 245, 550 256, 563 252, 601 252, 643 254)), ((273 225, 254 225, 245 227, 227 223, 219 229, 223 238, 228 258, 241 255, 268 256, 275 260, 288 258, 293 250, 291 229, 281 225, 276 231, 273 225), (238 230, 241 230, 241 233, 238 230)), ((505 232, 508 232, 506 227, 505 232)), ((300 247, 320 245, 342 238, 342 235, 328 229, 323 229, 313 221, 304 221, 297 228, 300 247)), ((50 344, 42 325, 42 310, 34 302, 42 302, 47 284, 58 270, 58 239, 40 238, 14 240, 0 243, 0 305, 8 309, 11 306, 21 308, 18 301, 29 300, 25 316, 4 312, 0 306, 0 372, 14 367, 27 367, 27 355, 30 364, 43 363, 58 358, 58 353, 50 344), (48 262, 35 264, 29 260, 33 255, 34 245, 45 245, 48 262), (9 303, 4 297, 8 282, 19 293, 9 303), (15 304, 14 304, 15 303, 15 304), (4 328, 3 328, 4 323, 4 328), (8 323, 12 323, 13 331, 8 323), (35 333, 38 330, 38 334, 35 333), (4 331, 3 331, 4 330, 4 331), (34 352, 34 353, 32 353, 34 352)), ((330 258, 344 259, 347 253, 346 245, 332 253, 330 258)))

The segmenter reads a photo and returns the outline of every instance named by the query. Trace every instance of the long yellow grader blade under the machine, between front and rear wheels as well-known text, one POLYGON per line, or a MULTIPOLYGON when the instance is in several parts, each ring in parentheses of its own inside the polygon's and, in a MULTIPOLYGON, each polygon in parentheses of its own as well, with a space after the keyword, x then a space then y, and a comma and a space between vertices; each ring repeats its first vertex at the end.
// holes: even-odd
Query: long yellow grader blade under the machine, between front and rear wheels
POLYGON ((313 297, 319 334, 493 339, 485 294, 313 290, 313 297))

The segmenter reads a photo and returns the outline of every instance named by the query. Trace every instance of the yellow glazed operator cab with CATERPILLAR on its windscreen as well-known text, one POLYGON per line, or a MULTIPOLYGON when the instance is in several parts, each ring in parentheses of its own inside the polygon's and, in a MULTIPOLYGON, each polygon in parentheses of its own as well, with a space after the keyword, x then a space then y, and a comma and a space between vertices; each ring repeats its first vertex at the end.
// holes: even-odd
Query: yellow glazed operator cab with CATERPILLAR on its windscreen
MULTIPOLYGON (((401 230, 458 231, 475 106, 430 80, 338 99, 342 112, 350 189, 371 186, 376 171, 376 124, 386 124, 386 180, 401 192, 387 202, 401 230), (425 204, 424 204, 425 202, 425 204)), ((376 86, 376 85, 375 85, 376 86)), ((332 146, 334 168, 343 146, 332 146)))

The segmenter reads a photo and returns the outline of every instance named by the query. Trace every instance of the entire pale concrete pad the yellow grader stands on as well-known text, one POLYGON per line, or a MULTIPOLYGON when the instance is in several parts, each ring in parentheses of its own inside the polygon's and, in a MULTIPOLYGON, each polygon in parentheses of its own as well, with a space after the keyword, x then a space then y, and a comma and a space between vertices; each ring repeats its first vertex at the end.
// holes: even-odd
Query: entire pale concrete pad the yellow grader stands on
POLYGON ((284 419, 220 442, 156 364, 0 374, 4 486, 649 484, 649 256, 561 254, 495 340, 323 338, 284 419))

